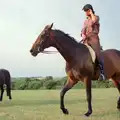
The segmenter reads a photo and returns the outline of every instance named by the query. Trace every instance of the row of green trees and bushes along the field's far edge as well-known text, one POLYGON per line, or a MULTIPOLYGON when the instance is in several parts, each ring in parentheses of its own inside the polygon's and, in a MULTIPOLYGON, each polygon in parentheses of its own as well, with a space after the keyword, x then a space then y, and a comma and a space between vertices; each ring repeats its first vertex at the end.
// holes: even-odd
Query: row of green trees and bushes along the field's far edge
MULTIPOLYGON (((19 78, 12 81, 12 90, 37 90, 37 89, 61 89, 67 81, 67 77, 54 79, 47 76, 38 78, 19 78)), ((92 81, 92 88, 111 88, 115 87, 112 81, 92 81)), ((73 89, 84 89, 83 82, 78 82, 73 89)))

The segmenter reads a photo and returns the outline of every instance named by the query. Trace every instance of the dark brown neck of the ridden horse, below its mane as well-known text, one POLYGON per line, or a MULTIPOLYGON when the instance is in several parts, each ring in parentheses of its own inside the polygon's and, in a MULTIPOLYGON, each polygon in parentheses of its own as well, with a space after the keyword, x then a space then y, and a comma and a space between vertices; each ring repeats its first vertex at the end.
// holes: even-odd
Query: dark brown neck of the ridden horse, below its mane
POLYGON ((61 40, 62 38, 56 38, 56 49, 63 56, 66 62, 74 61, 75 56, 75 45, 70 44, 67 41, 61 40))

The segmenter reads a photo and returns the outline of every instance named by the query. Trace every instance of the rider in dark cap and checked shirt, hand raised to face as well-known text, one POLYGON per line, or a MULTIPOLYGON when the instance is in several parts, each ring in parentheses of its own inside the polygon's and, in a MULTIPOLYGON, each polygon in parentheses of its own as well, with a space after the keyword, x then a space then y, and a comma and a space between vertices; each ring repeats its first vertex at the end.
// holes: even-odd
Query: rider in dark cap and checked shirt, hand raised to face
POLYGON ((86 13, 87 19, 84 22, 83 29, 81 31, 81 37, 83 38, 83 43, 90 45, 96 53, 97 60, 99 62, 100 76, 99 80, 105 80, 103 58, 100 56, 100 41, 99 41, 99 16, 95 15, 92 5, 86 4, 83 7, 86 13))

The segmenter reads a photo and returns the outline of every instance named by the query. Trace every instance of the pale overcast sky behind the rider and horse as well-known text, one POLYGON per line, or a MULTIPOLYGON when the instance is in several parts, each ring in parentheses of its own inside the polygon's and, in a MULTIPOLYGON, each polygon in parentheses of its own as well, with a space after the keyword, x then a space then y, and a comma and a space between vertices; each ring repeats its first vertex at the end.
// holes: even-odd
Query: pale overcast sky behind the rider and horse
POLYGON ((13 77, 64 76, 65 60, 59 53, 33 57, 29 50, 52 22, 53 28, 80 40, 85 19, 81 9, 87 3, 100 16, 103 48, 120 49, 120 0, 0 0, 0 68, 8 69, 13 77))

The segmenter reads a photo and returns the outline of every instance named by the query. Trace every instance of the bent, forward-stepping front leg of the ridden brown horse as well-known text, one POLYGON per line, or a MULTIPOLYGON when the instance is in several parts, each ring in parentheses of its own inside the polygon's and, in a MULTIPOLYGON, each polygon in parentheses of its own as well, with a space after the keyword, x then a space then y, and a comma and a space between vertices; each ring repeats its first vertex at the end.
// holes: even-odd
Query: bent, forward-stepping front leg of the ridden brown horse
POLYGON ((60 93, 60 108, 64 114, 69 114, 68 110, 65 108, 64 105, 64 95, 65 93, 70 90, 74 85, 76 84, 75 81, 73 81, 71 78, 68 78, 67 83, 63 87, 60 93))

